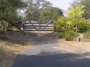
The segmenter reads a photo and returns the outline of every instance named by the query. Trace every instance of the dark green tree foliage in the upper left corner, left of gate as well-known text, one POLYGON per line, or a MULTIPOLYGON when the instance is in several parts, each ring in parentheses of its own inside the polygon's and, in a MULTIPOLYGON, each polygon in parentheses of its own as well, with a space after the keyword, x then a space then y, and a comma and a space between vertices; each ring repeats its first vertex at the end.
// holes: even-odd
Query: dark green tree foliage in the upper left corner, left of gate
POLYGON ((25 6, 22 0, 0 0, 0 20, 16 26, 20 21, 17 10, 25 6))

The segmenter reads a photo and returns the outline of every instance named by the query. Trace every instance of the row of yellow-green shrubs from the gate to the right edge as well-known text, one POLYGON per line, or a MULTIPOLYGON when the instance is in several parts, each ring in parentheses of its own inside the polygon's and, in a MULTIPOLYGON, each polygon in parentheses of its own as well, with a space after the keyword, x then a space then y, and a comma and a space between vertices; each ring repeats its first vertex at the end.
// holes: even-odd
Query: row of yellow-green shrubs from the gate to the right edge
POLYGON ((83 33, 90 29, 90 23, 84 18, 80 18, 76 21, 75 18, 59 17, 58 20, 55 21, 54 27, 56 32, 73 30, 78 33, 83 33))

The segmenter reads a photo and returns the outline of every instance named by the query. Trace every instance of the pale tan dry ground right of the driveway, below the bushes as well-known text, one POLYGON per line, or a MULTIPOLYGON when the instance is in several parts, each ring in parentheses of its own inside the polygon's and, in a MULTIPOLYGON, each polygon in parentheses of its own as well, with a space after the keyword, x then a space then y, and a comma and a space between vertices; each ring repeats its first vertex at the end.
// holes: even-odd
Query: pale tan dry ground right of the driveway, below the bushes
POLYGON ((90 42, 65 41, 63 44, 54 47, 70 53, 90 52, 90 42))

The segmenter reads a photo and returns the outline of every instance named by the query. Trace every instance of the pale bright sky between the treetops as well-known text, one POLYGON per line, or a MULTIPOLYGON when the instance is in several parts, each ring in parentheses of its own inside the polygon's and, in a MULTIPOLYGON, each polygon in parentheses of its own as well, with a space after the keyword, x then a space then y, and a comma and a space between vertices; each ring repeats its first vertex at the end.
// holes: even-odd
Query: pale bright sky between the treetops
POLYGON ((47 1, 50 1, 53 4, 53 6, 59 7, 60 9, 67 11, 75 0, 47 0, 47 1))

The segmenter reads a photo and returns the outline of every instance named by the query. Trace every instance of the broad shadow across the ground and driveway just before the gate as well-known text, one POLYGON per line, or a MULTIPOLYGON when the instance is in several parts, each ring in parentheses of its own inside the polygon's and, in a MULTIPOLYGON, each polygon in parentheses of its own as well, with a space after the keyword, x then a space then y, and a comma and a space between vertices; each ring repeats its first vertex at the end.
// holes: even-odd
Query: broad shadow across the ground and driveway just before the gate
POLYGON ((6 38, 0 39, 7 42, 20 45, 42 45, 47 43, 56 42, 56 38, 49 34, 37 34, 37 33, 26 33, 25 35, 22 32, 9 32, 6 34, 6 38))

